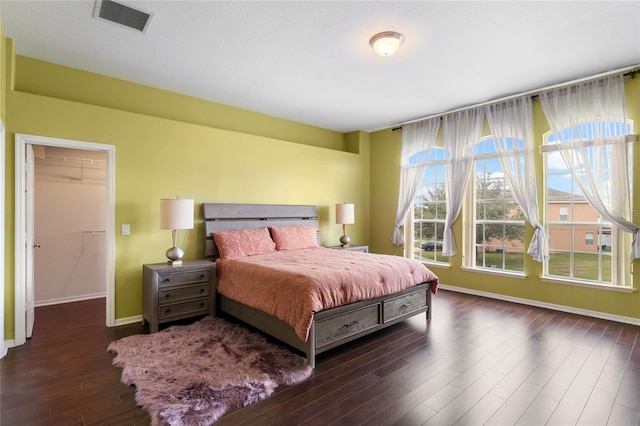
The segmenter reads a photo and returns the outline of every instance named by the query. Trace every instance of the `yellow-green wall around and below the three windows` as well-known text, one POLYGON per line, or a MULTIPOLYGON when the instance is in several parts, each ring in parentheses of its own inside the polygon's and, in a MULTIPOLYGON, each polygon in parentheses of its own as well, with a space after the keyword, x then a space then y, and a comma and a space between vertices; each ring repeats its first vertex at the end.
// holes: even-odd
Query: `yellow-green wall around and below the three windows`
MULTIPOLYGON (((628 118, 634 122, 635 133, 640 128, 640 78, 625 80, 625 95, 628 118)), ((485 130, 486 131, 486 130, 485 130)), ((542 135, 549 127, 539 102, 534 102, 534 136, 541 144, 542 135)), ((371 139, 371 232, 369 245, 372 251, 402 255, 403 248, 391 243, 392 224, 395 218, 398 186, 400 147, 402 132, 390 129, 372 133, 371 139), (375 212, 375 213, 374 213, 375 212)), ((634 150, 634 164, 640 164, 640 149, 634 150)), ((537 175, 543 176, 542 156, 536 158, 537 175)), ((633 177, 633 220, 640 223, 640 168, 635 167, 633 177)), ((539 199, 542 199, 543 183, 539 179, 539 199)), ((460 217, 464 212, 461 214, 460 217)), ((457 245, 462 233, 462 219, 454 224, 457 245)), ((527 227, 525 238, 530 241, 531 227, 527 227)), ((460 250, 459 250, 460 251, 460 250)), ((449 267, 430 266, 443 284, 461 287, 472 292, 493 293, 507 298, 528 299, 542 304, 563 305, 604 314, 640 319, 640 292, 621 292, 599 288, 579 287, 544 281, 542 264, 525 256, 525 279, 510 278, 481 272, 463 271, 462 255, 450 258, 449 267)), ((634 267, 639 265, 634 261, 634 267)), ((640 277, 634 276, 634 288, 638 288, 640 277)))

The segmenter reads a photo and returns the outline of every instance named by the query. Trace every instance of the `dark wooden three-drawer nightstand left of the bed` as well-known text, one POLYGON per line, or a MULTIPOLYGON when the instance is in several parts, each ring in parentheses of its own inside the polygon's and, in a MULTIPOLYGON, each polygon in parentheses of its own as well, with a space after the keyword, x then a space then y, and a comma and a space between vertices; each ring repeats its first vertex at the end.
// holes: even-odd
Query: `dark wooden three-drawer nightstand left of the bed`
POLYGON ((208 260, 143 265, 142 319, 149 331, 166 322, 215 315, 215 276, 216 264, 208 260))

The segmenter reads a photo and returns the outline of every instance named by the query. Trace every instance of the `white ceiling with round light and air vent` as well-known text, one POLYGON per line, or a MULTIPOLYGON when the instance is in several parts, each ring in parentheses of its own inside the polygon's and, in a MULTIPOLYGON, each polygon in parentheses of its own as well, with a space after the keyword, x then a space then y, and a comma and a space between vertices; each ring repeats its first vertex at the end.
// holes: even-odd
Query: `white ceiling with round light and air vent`
POLYGON ((640 1, 137 1, 146 33, 93 0, 2 0, 32 58, 340 132, 640 63, 640 1), (392 57, 369 38, 405 36, 392 57))

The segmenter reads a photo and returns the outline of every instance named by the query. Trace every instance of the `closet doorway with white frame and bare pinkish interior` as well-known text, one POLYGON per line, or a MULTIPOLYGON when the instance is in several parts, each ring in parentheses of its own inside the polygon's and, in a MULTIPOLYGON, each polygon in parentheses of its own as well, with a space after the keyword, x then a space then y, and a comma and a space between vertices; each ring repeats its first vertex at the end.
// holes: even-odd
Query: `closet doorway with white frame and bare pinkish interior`
POLYGON ((115 324, 114 158, 110 145, 16 135, 16 345, 35 306, 105 297, 115 324))

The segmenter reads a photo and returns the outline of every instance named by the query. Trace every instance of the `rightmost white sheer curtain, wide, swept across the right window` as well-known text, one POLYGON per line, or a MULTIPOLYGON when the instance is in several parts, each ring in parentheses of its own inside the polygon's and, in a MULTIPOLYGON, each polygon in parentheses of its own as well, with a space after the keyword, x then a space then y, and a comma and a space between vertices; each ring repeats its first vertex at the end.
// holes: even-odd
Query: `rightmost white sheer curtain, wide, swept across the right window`
POLYGON ((551 90, 540 100, 557 134, 558 151, 584 197, 605 220, 633 234, 631 258, 640 258, 640 226, 630 219, 623 76, 551 90))

